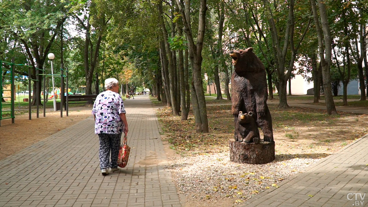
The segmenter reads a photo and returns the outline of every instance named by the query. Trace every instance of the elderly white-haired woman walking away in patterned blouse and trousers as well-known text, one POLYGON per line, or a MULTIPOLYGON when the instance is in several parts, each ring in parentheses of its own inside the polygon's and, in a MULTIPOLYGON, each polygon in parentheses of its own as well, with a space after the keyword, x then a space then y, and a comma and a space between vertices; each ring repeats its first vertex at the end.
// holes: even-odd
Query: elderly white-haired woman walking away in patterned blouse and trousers
POLYGON ((100 93, 93 104, 92 114, 95 116, 95 134, 100 139, 99 157, 102 175, 118 170, 117 158, 120 148, 121 134, 128 133, 127 117, 123 99, 119 92, 118 80, 107 78, 106 91, 100 93), (111 162, 110 162, 111 152, 111 162))

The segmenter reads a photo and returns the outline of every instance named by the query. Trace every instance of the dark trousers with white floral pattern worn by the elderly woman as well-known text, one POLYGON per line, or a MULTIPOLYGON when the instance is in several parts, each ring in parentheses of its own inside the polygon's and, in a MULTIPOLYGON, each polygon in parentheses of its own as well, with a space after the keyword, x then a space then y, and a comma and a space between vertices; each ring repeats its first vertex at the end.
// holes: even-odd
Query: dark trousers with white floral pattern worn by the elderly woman
POLYGON ((117 168, 117 157, 119 155, 121 134, 98 134, 100 139, 100 168, 117 168), (110 162, 111 152, 111 162, 110 162))

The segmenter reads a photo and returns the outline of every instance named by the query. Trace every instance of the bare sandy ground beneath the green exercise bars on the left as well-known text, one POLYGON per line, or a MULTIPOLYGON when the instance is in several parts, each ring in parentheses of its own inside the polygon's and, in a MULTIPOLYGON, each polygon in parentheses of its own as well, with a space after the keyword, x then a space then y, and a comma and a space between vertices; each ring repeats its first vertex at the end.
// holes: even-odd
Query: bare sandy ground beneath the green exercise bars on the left
POLYGON ((25 113, 15 115, 14 124, 11 123, 11 119, 1 120, 0 160, 86 119, 91 116, 90 108, 69 111, 69 116, 64 112, 63 118, 60 118, 60 111, 46 112, 46 117, 43 117, 43 112, 40 111, 38 119, 36 113, 32 113, 32 120, 29 120, 28 113, 25 113))

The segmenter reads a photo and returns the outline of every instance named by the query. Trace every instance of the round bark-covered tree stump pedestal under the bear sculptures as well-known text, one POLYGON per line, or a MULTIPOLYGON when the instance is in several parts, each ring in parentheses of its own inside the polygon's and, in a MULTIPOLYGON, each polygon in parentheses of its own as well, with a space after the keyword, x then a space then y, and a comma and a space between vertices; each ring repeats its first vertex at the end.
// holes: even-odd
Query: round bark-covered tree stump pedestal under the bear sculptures
POLYGON ((275 142, 261 141, 255 143, 241 143, 229 140, 230 161, 248 164, 266 164, 275 159, 275 142))

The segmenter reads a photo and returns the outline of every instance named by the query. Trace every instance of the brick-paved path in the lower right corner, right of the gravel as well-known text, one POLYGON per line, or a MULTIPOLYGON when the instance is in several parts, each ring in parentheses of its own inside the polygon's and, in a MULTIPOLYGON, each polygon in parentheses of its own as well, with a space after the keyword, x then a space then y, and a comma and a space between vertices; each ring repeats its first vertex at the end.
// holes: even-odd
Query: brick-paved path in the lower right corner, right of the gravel
POLYGON ((247 200, 245 206, 368 206, 367 148, 368 135, 365 135, 303 173, 279 183, 279 188, 271 187, 247 200))

